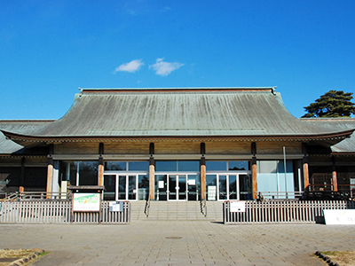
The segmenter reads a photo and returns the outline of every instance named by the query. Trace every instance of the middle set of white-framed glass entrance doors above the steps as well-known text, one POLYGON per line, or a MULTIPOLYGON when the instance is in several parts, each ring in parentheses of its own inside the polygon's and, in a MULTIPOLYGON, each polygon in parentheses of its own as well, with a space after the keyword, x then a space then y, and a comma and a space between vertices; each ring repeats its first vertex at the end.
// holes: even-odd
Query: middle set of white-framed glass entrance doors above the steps
POLYGON ((155 200, 199 200, 199 175, 155 175, 155 200))

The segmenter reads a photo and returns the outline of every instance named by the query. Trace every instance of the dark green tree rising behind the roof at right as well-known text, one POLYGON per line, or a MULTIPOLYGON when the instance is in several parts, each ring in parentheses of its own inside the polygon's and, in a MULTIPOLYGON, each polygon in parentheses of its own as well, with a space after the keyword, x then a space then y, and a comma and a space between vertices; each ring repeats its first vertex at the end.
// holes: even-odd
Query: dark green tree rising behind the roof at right
POLYGON ((302 117, 350 117, 355 114, 355 104, 351 102, 352 92, 329 90, 316 99, 314 103, 305 106, 307 112, 302 117))

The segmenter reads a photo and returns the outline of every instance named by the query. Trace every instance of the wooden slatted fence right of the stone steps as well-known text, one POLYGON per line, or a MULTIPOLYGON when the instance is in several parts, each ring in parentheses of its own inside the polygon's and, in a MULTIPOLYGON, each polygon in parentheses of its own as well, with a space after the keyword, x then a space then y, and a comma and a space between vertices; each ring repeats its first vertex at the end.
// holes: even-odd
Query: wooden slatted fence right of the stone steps
MULTIPOLYGON (((243 209, 231 212, 231 202, 223 204, 223 221, 229 223, 324 223, 323 209, 355 208, 346 200, 244 201, 243 209)), ((232 203, 233 204, 233 203, 232 203)))

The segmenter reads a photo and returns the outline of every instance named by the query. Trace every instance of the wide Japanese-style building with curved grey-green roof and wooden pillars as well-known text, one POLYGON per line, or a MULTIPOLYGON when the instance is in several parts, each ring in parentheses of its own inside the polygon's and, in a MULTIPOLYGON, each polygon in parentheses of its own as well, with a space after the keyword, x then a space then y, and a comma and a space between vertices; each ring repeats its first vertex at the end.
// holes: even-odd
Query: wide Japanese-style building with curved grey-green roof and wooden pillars
POLYGON ((253 200, 355 188, 355 119, 297 119, 274 88, 81 89, 59 120, 0 129, 4 194, 99 185, 104 200, 253 200))

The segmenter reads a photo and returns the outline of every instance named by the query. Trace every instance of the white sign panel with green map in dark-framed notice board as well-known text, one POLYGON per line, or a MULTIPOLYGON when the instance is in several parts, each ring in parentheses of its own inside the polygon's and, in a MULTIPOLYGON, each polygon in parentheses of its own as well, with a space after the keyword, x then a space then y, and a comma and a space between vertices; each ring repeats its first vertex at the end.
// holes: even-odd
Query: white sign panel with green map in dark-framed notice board
POLYGON ((76 212, 99 212, 100 193, 74 193, 73 211, 76 212))

